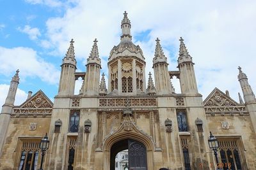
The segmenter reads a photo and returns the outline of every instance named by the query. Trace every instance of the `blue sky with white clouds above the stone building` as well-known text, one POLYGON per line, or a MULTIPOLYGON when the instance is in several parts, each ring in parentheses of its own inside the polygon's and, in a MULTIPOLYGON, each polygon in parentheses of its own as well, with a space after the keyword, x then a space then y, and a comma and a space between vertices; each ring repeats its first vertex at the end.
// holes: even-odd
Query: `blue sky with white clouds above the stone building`
MULTIPOLYGON (((20 83, 15 105, 26 101, 29 90, 35 94, 41 89, 53 101, 72 38, 77 71, 86 71, 86 59, 97 38, 101 73, 108 73, 109 52, 120 42, 124 11, 131 20, 132 41, 143 50, 146 74, 153 72, 156 38, 168 57, 168 69, 177 70, 182 36, 193 57, 203 99, 217 87, 239 101, 238 66, 256 90, 256 1, 0 0, 0 4, 1 106, 17 69, 20 83)), ((179 93, 179 80, 172 81, 179 93)), ((80 87, 78 80, 76 94, 80 87)))

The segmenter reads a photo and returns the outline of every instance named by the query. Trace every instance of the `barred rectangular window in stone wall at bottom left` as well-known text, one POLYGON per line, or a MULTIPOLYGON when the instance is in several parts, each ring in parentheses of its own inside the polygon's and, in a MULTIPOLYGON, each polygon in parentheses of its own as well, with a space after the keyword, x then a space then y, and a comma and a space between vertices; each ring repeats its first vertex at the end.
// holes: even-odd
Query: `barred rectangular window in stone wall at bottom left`
POLYGON ((19 170, 36 170, 38 167, 38 156, 40 152, 40 140, 36 141, 19 141, 20 143, 20 159, 19 170))

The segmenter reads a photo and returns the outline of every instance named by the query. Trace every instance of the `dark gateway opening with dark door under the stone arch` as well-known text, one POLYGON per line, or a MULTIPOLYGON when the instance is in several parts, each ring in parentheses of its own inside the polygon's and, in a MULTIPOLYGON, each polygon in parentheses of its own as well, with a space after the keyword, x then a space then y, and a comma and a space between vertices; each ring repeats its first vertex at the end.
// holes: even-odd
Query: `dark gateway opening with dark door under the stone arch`
POLYGON ((128 149, 129 170, 147 170, 147 150, 145 146, 132 139, 124 139, 111 146, 110 169, 115 170, 116 154, 128 149))

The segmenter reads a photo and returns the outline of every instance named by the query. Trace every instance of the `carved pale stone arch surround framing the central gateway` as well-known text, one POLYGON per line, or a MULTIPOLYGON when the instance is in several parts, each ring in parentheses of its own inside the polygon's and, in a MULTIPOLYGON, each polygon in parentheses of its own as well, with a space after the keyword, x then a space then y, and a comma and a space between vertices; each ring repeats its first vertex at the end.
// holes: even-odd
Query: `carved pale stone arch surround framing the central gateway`
POLYGON ((118 141, 122 141, 124 139, 133 139, 134 141, 139 141, 142 143, 147 150, 147 166, 148 170, 153 170, 153 151, 154 151, 154 142, 152 141, 152 138, 145 134, 142 130, 140 130, 134 122, 132 122, 131 129, 129 131, 125 130, 124 128, 124 122, 120 125, 118 129, 116 129, 115 132, 112 134, 109 134, 107 138, 105 139, 103 143, 103 152, 104 152, 104 170, 110 169, 110 151, 111 146, 113 146, 115 143, 118 143, 118 141))

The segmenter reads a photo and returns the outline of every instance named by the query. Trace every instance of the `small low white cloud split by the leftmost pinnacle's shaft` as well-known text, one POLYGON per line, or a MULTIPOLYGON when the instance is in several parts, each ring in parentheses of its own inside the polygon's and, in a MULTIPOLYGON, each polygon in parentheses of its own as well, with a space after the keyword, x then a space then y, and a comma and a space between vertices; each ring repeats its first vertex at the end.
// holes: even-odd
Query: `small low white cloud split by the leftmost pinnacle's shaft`
MULTIPOLYGON (((0 106, 3 106, 8 94, 10 85, 0 84, 0 106)), ((28 94, 23 90, 17 89, 14 105, 20 105, 26 101, 28 94)))

